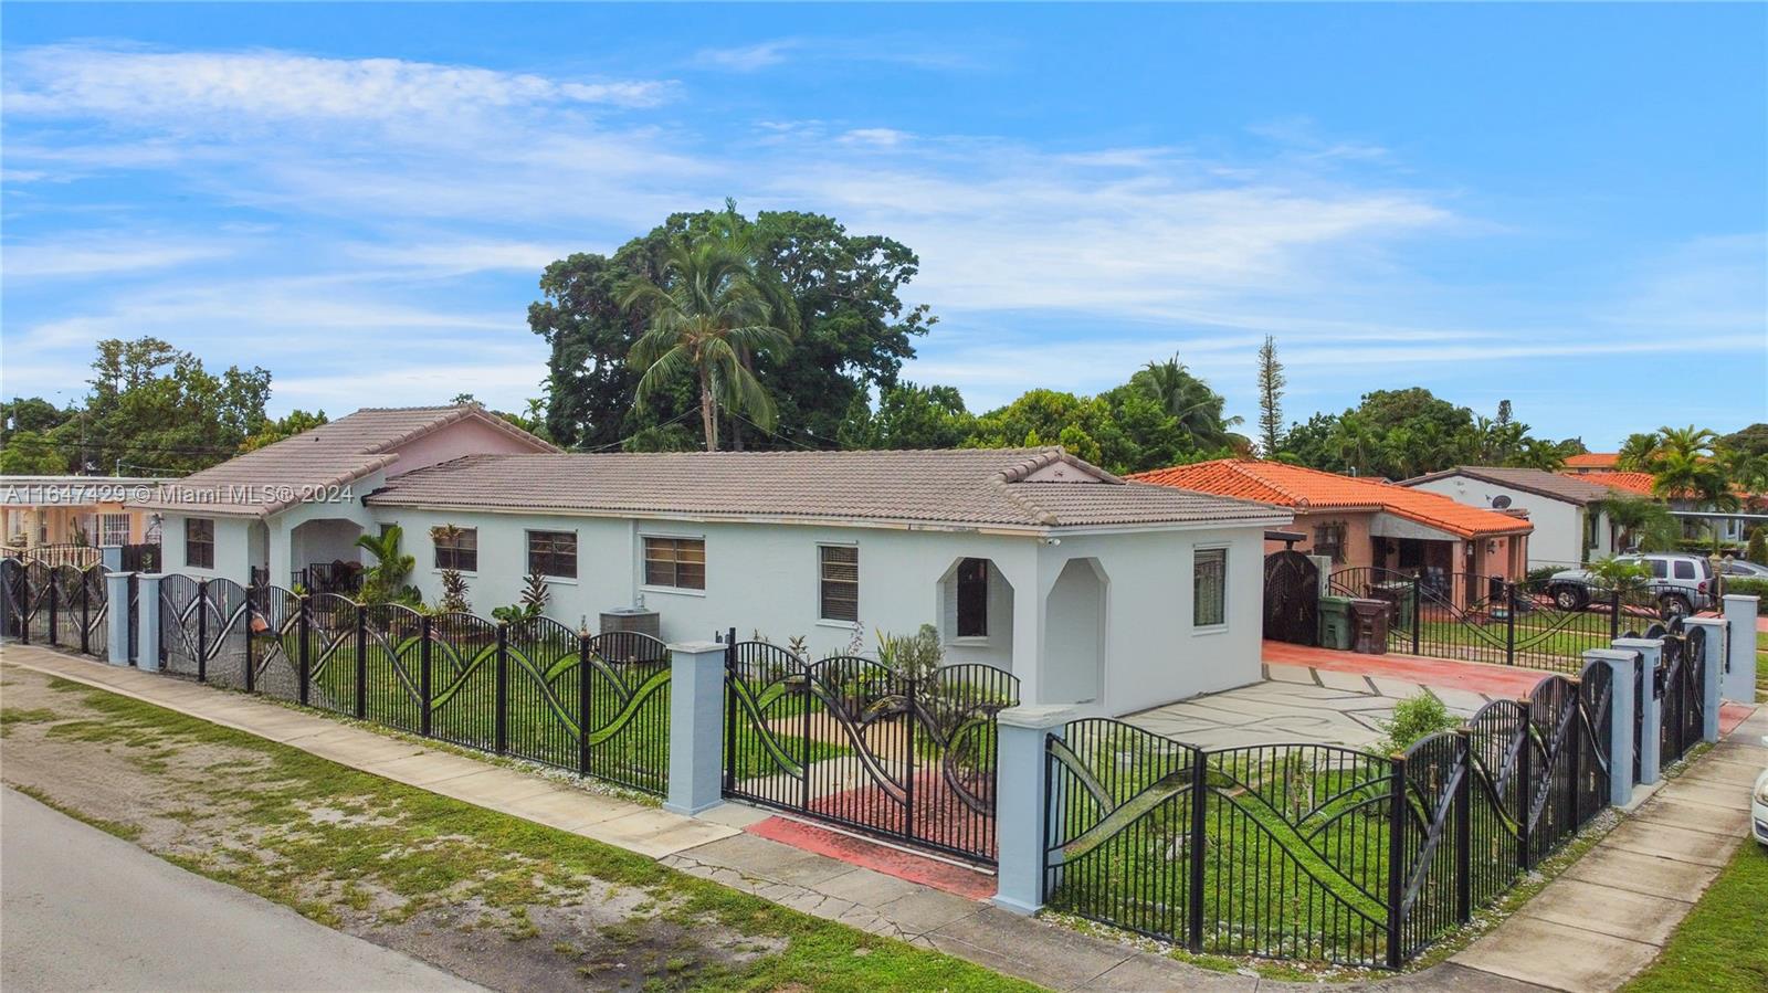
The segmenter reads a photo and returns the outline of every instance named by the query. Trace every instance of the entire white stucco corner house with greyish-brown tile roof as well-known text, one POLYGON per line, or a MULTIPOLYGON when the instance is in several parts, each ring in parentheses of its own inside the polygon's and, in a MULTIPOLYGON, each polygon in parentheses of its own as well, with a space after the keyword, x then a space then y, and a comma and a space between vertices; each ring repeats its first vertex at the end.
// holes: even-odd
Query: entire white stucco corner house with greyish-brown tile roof
POLYGON ((400 525, 424 599, 440 599, 454 567, 479 615, 516 603, 539 571, 550 617, 596 629, 638 610, 665 640, 735 627, 803 638, 820 657, 934 624, 949 663, 1006 668, 1027 703, 1093 714, 1261 678, 1264 530, 1291 521, 1284 509, 1126 482, 1057 447, 562 454, 481 421, 495 419, 368 410, 196 474, 189 500, 156 504, 166 569, 285 576, 400 525), (426 417, 438 424, 412 426, 426 417), (336 443, 309 440, 325 431, 336 443), (463 451, 479 442, 486 451, 463 451), (308 475, 355 474, 350 500, 196 498, 223 479, 263 484, 320 451, 339 465, 308 475), (444 525, 458 532, 438 546, 444 525), (198 544, 191 564, 184 535, 210 527, 212 558, 198 544))

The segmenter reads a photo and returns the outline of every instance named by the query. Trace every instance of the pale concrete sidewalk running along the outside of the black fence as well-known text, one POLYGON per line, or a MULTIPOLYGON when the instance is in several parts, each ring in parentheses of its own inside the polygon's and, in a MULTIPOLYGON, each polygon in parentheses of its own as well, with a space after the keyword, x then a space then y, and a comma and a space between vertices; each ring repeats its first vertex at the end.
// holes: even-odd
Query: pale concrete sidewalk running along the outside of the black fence
MULTIPOLYGON (((767 811, 723 804, 698 818, 672 815, 645 804, 571 788, 518 769, 394 739, 366 726, 345 724, 334 717, 164 675, 64 656, 41 647, 7 645, 4 663, 143 700, 385 779, 638 852, 665 866, 815 917, 939 949, 1055 989, 1254 991, 1292 988, 1292 984, 1255 975, 1209 972, 1155 952, 1140 952, 1116 942, 1078 935, 1066 928, 1008 913, 987 901, 856 866, 852 859, 833 859, 746 830, 778 820, 767 811)), ((1764 721, 1768 717, 1759 712, 1743 733, 1761 733, 1752 731, 1752 728, 1764 721)), ((1733 816, 1726 813, 1731 809, 1727 806, 1731 795, 1736 797, 1734 806, 1747 804, 1754 769, 1761 767, 1761 751, 1750 751, 1749 746, 1738 742, 1722 742, 1713 754, 1703 758, 1642 807, 1641 820, 1648 823, 1628 823, 1618 829, 1517 917, 1448 963, 1409 975, 1337 988, 1379 986, 1384 991, 1522 991, 1540 988, 1581 991, 1611 988, 1565 984, 1545 974, 1529 979, 1517 974, 1517 965, 1579 966, 1589 963, 1566 959, 1597 958, 1565 954, 1566 940, 1581 942, 1604 956, 1609 954, 1612 942, 1623 942, 1618 947, 1630 956, 1625 961, 1632 963, 1639 954, 1644 954, 1642 961, 1650 961, 1664 940, 1662 935, 1674 928, 1701 889, 1717 875, 1717 866, 1722 860, 1715 860, 1717 855, 1711 852, 1722 848, 1729 853, 1741 841, 1741 827, 1733 832, 1729 841, 1717 832, 1722 830, 1718 827, 1722 818, 1733 816), (1752 762, 1756 765, 1750 765, 1752 762), (1745 770, 1749 770, 1747 777, 1745 770), (1734 786, 1734 781, 1741 781, 1743 786, 1734 786), (1692 852, 1692 855, 1683 855, 1683 852, 1692 852), (1598 859, 1598 855, 1602 857, 1598 859), (1639 866, 1658 866, 1658 873, 1646 876, 1639 866), (1614 876, 1614 882, 1593 882, 1593 878, 1609 876, 1614 876), (1589 894, 1570 892, 1570 896, 1554 896, 1549 901, 1549 894, 1559 889, 1572 891, 1574 887, 1566 883, 1574 880, 1581 885, 1607 887, 1623 892, 1623 896, 1604 892, 1589 898, 1589 894), (1611 935, 1588 921, 1582 926, 1556 922, 1558 917, 1568 913, 1574 917, 1595 915, 1593 921, 1614 917, 1618 908, 1637 903, 1627 894, 1635 894, 1641 899, 1653 896, 1637 894, 1641 880, 1676 894, 1671 905, 1655 905, 1651 913, 1641 913, 1644 922, 1662 929, 1655 944, 1611 935), (1632 889, 1627 889, 1628 882, 1632 889), (1589 906, 1574 903, 1570 905, 1574 910, 1565 910, 1565 901, 1586 898, 1589 906), (1545 910, 1538 910, 1538 906, 1545 906, 1545 910), (1674 913, 1667 915, 1671 910, 1674 913), (1505 935, 1513 935, 1503 938, 1513 942, 1510 945, 1513 951, 1494 945, 1505 935), (1540 942, 1543 940, 1552 944, 1542 949, 1540 942), (1644 952, 1648 945, 1650 952, 1644 952), (1494 952, 1494 947, 1499 951, 1494 952)), ((1743 807, 1738 806, 1738 809, 1743 807)), ((1741 818, 1743 815, 1734 816, 1741 818)), ((886 853, 893 852, 870 843, 856 845, 886 853)), ((875 860, 880 866, 889 862, 888 857, 875 860)), ((1634 968, 1637 965, 1627 966, 1627 972, 1619 975, 1628 975, 1634 968)))

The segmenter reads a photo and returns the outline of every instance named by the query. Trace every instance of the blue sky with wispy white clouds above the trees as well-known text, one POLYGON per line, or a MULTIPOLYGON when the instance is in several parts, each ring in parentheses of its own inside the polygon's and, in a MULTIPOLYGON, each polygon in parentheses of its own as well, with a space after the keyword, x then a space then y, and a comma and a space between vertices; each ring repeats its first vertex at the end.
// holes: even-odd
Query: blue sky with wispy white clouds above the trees
POLYGON ((99 337, 272 412, 516 408, 546 262, 672 210, 921 256, 972 408, 1177 352, 1612 447, 1768 419, 1764 5, 7 4, 0 392, 99 337))

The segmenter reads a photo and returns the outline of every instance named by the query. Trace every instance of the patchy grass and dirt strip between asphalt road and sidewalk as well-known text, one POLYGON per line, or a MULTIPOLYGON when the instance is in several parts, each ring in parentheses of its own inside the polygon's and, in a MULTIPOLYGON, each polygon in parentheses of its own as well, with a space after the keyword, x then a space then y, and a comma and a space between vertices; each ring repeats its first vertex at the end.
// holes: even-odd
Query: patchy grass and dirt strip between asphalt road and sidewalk
POLYGON ((5 682, 9 786, 490 988, 1033 989, 149 703, 5 682))

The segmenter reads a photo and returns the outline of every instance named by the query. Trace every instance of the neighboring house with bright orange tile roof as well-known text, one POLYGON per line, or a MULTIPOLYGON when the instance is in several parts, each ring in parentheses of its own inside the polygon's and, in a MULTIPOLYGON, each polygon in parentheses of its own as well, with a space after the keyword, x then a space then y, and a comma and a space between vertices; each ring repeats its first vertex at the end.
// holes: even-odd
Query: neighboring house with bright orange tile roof
MULTIPOLYGON (((1296 516, 1289 530, 1303 535, 1296 551, 1324 555, 1340 569, 1395 569, 1439 581, 1457 572, 1517 578, 1529 555, 1533 525, 1519 514, 1372 479, 1254 459, 1179 465, 1132 479, 1285 507, 1296 516)), ((1284 544, 1271 541, 1268 551, 1284 544)))

